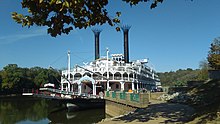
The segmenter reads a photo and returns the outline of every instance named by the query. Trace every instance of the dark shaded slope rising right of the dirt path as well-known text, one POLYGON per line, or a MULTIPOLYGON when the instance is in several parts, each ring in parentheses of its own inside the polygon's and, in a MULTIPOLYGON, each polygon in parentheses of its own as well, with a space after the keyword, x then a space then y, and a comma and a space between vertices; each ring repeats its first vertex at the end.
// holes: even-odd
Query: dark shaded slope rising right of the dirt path
POLYGON ((220 80, 204 82, 170 102, 195 108, 197 114, 190 123, 220 123, 220 80))

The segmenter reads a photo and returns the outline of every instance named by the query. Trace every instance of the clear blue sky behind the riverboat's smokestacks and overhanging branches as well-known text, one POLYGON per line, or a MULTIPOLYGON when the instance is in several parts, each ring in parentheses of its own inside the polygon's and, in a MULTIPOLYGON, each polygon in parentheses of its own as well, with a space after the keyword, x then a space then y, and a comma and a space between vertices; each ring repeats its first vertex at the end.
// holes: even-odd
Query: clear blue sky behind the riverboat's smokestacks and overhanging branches
MULTIPOLYGON (((0 70, 8 64, 66 68, 68 50, 71 67, 94 60, 94 27, 56 38, 47 34, 47 27, 22 27, 11 18, 11 12, 26 13, 19 1, 0 0, 0 70)), ((149 3, 131 7, 109 0, 107 9, 111 16, 121 11, 121 24, 131 25, 130 60, 148 58, 157 72, 198 69, 211 42, 220 36, 220 0, 164 0, 155 9, 149 3)), ((122 32, 108 25, 95 28, 102 29, 101 56, 106 56, 106 48, 110 54, 123 53, 122 32)))

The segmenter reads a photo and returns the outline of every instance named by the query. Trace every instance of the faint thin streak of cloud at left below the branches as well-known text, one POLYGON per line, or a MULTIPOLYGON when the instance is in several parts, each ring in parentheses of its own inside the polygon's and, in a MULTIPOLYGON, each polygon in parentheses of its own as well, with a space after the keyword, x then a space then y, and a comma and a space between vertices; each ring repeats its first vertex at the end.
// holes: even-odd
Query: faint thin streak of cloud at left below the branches
POLYGON ((28 30, 20 34, 12 34, 7 36, 0 36, 0 44, 11 44, 28 38, 47 35, 46 29, 28 30))

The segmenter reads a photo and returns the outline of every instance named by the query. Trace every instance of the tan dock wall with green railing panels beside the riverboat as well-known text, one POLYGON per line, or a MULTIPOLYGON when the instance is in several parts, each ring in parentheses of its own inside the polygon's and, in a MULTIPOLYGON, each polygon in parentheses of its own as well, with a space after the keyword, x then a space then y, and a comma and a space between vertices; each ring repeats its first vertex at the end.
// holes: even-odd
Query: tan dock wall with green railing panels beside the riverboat
POLYGON ((149 93, 130 93, 121 91, 105 92, 105 112, 110 116, 119 116, 146 108, 149 105, 149 93))

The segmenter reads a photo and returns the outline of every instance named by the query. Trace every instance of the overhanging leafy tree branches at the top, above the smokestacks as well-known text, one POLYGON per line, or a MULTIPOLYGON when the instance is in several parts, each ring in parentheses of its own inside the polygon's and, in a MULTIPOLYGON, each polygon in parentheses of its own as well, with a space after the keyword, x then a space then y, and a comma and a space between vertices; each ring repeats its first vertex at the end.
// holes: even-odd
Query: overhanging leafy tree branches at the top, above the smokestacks
MULTIPOLYGON (((140 2, 150 2, 151 8, 163 0, 123 0, 132 5, 140 2)), ((12 18, 22 24, 31 27, 47 26, 47 32, 56 37, 62 33, 68 34, 73 28, 87 28, 88 26, 103 25, 116 26, 120 28, 119 17, 121 12, 116 12, 112 18, 108 14, 106 6, 108 0, 22 0, 22 8, 28 10, 28 15, 12 13, 12 18)))

